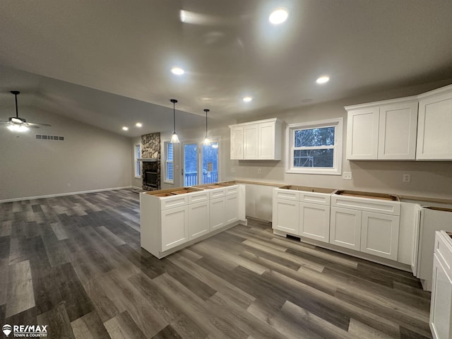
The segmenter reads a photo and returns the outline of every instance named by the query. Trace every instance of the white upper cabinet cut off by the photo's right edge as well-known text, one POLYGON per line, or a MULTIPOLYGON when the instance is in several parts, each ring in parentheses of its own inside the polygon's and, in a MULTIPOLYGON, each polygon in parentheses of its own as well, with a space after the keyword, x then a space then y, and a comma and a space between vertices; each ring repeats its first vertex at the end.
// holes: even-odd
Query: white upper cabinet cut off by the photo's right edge
POLYGON ((452 160, 452 85, 419 95, 418 160, 452 160))

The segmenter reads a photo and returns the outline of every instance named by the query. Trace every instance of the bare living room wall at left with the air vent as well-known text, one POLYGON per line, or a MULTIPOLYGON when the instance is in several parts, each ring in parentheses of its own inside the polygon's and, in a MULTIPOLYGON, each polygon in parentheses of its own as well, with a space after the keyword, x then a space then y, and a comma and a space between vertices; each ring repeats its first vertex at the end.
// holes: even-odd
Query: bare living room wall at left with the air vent
POLYGON ((52 126, 27 133, 0 126, 0 201, 131 186, 130 138, 30 107, 20 113, 52 126), (38 141, 35 133, 64 141, 38 141))

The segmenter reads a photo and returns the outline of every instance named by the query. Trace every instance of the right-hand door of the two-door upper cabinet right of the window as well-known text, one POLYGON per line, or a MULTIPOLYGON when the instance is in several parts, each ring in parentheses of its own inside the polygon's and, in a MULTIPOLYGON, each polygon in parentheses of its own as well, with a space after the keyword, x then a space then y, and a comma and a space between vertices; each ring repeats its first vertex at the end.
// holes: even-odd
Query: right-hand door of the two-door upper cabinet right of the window
POLYGON ((379 159, 416 157, 417 102, 380 107, 379 159))

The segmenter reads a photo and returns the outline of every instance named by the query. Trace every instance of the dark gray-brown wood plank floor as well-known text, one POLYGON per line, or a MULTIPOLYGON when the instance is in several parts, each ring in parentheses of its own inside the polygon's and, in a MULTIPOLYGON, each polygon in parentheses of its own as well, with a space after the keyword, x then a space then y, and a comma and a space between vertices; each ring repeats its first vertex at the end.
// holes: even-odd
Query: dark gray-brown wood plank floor
POLYGON ((0 326, 47 338, 432 338, 411 273, 249 220, 162 260, 131 190, 0 204, 0 326))

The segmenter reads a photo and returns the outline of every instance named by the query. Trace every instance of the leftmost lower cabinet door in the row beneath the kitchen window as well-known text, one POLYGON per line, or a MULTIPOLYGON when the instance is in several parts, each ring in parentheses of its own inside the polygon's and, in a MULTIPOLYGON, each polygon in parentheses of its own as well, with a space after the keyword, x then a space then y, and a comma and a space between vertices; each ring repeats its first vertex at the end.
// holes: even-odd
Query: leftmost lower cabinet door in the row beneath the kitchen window
POLYGON ((275 230, 299 234, 299 202, 273 198, 272 219, 275 230))

